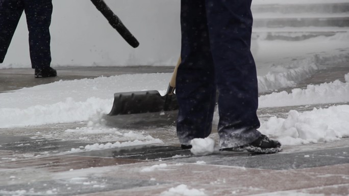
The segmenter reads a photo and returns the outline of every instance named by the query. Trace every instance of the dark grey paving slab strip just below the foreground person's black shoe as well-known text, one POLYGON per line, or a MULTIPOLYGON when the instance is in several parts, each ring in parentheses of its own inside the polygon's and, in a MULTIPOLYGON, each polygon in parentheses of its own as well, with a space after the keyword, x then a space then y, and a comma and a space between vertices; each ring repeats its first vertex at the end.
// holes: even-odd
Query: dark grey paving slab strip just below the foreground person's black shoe
MULTIPOLYGON (((349 163, 349 147, 321 149, 299 153, 277 153, 270 155, 255 155, 250 153, 225 153, 220 155, 202 156, 201 161, 214 165, 241 166, 269 170, 303 169, 325 165, 349 163)), ((176 162, 197 162, 197 157, 173 159, 176 162)))

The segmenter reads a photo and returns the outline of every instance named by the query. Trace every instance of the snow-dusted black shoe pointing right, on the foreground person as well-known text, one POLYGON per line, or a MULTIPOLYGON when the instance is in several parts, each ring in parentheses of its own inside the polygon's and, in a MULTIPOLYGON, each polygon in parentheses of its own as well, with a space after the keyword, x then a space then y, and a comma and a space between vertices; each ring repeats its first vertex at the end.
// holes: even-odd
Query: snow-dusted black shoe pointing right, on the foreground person
POLYGON ((246 150, 253 153, 269 154, 281 152, 282 148, 279 141, 269 139, 269 137, 262 134, 254 142, 248 144, 246 150))

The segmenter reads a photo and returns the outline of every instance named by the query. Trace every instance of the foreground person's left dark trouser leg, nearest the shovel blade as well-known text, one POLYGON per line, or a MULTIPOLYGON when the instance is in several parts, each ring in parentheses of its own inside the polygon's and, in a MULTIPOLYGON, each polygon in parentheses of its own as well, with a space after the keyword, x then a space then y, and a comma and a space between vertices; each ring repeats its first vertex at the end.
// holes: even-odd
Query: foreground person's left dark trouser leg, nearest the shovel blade
POLYGON ((180 106, 177 135, 185 145, 193 138, 207 137, 212 129, 216 88, 207 28, 205 0, 182 0, 182 63, 176 94, 180 106))

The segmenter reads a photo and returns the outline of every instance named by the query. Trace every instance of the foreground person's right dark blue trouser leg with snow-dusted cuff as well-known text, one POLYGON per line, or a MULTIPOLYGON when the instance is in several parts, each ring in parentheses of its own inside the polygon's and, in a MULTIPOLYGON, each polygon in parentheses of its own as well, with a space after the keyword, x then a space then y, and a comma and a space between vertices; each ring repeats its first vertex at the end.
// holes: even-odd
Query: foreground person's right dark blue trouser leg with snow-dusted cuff
POLYGON ((206 0, 210 46, 219 92, 219 145, 237 147, 260 136, 258 84, 250 50, 252 0, 206 0))

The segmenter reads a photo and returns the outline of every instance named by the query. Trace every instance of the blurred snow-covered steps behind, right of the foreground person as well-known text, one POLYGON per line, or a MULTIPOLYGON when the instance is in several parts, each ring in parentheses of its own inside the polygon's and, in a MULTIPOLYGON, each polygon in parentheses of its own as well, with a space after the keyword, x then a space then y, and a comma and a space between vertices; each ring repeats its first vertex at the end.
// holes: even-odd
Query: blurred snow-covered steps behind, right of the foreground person
POLYGON ((253 38, 304 40, 349 32, 349 0, 254 1, 253 38))

